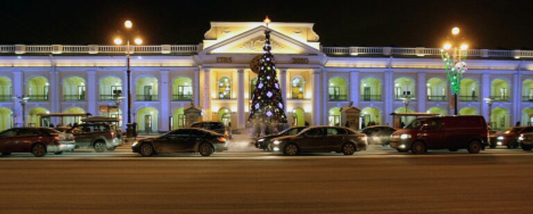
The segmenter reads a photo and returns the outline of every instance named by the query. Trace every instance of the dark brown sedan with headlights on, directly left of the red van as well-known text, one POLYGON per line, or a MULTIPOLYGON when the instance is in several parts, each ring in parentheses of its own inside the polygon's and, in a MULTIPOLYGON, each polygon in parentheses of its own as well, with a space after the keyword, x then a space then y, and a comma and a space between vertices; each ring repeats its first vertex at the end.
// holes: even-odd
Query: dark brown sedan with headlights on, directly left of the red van
POLYGON ((271 139, 274 152, 296 155, 300 152, 342 152, 352 155, 366 150, 366 135, 346 127, 308 127, 296 135, 271 139))

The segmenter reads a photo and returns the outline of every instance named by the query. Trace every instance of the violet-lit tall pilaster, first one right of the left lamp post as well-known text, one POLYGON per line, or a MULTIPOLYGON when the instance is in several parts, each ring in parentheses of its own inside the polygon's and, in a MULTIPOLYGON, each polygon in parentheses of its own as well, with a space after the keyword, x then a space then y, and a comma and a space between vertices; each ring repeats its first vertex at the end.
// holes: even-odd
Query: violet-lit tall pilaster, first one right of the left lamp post
MULTIPOLYGON (((160 101, 159 105, 161 107, 161 112, 159 112, 160 118, 159 118, 159 130, 167 132, 169 131, 169 116, 171 116, 170 112, 170 88, 169 88, 169 71, 159 71, 161 77, 159 79, 160 81, 160 101)), ((177 119, 177 118, 176 118, 177 119)))

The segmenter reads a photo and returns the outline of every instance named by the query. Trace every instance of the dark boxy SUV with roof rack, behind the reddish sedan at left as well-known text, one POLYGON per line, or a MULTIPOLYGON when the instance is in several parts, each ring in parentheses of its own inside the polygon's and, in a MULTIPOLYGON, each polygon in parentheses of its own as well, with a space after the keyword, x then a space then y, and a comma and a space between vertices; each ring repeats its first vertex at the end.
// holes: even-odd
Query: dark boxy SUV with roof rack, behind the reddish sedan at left
POLYGON ((121 130, 109 123, 77 124, 67 132, 74 134, 76 148, 93 148, 96 152, 115 150, 124 143, 121 130))

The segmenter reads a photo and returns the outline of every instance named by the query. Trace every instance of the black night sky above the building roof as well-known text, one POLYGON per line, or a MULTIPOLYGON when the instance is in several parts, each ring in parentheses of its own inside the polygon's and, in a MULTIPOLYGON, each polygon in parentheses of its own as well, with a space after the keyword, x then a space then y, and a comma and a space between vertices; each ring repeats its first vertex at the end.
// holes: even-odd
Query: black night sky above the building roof
POLYGON ((533 1, 0 1, 0 44, 112 44, 131 19, 146 44, 198 44, 210 21, 312 22, 323 46, 533 50, 533 1))

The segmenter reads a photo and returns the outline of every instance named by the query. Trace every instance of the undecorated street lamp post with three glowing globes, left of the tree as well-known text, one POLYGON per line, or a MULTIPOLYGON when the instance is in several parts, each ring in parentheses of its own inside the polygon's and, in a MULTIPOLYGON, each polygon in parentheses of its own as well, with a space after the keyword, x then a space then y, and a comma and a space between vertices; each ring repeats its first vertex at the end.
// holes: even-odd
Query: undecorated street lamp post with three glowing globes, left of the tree
MULTIPOLYGON (((133 23, 130 20, 126 20, 124 21, 124 27, 126 27, 126 30, 130 30, 133 27, 133 23)), ((116 37, 114 42, 115 44, 120 45, 122 44, 122 39, 116 37)), ((137 45, 142 44, 142 39, 136 37, 134 42, 137 45)), ((131 97, 130 37, 126 37, 126 59, 126 74, 128 76, 128 123, 126 123, 126 136, 132 137, 135 136, 135 129, 133 123, 131 123, 131 105, 133 101, 131 97)))

